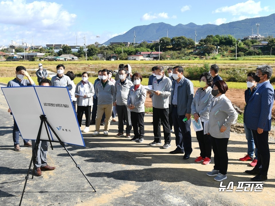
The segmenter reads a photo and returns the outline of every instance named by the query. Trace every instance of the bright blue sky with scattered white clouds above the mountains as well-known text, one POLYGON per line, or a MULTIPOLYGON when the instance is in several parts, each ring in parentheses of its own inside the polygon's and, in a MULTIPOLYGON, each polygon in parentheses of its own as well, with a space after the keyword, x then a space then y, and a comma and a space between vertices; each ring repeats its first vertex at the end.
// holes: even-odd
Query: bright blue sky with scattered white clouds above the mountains
MULTIPOLYGON (((103 43, 139 25, 220 25, 275 13, 275 1, 0 0, 0 46, 103 43)), ((261 26, 260 26, 261 27, 261 26)), ((256 26, 255 26, 256 28, 256 26)), ((260 31, 260 29, 259 29, 260 31)), ((199 34, 198 34, 199 35, 199 34)))

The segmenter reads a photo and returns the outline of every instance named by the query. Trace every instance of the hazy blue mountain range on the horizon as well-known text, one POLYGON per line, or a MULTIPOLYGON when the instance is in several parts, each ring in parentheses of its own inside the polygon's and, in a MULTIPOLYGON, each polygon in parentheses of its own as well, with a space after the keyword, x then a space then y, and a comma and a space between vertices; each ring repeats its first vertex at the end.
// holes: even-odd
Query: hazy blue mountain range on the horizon
POLYGON ((154 41, 162 37, 173 38, 175 36, 185 36, 195 40, 195 31, 197 34, 196 41, 205 38, 207 35, 227 35, 230 34, 237 39, 243 39, 243 36, 250 36, 257 34, 256 23, 259 23, 259 34, 262 36, 275 36, 275 13, 265 17, 256 17, 250 19, 243 19, 240 21, 233 21, 223 23, 221 25, 204 24, 197 25, 195 23, 178 24, 172 26, 167 23, 151 23, 149 25, 135 26, 127 31, 125 34, 115 36, 103 44, 108 45, 110 42, 134 42, 142 40, 154 41))

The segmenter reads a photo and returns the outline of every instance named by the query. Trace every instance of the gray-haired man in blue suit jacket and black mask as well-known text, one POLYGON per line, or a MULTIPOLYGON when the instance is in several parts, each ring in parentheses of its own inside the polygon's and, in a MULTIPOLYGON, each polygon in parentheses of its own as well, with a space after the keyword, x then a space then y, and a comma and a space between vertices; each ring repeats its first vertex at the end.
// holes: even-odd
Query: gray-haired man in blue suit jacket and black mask
POLYGON ((271 128, 271 111, 274 102, 274 89, 270 84, 272 68, 268 65, 258 66, 255 81, 258 88, 248 100, 243 120, 247 128, 252 130, 255 146, 258 148, 258 162, 253 170, 245 170, 248 174, 254 174, 252 181, 267 180, 267 172, 270 162, 268 146, 268 132, 271 128), (262 166, 262 168, 260 168, 262 166))

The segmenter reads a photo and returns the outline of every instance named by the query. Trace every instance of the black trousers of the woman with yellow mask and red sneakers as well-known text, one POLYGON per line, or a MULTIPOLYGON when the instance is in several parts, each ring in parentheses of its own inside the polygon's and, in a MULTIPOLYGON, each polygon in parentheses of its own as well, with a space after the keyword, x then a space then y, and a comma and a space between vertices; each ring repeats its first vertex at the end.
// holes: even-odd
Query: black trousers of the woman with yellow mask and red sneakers
MULTIPOLYGON (((204 122, 202 121, 201 124, 204 128, 204 122)), ((208 157, 211 159, 211 152, 212 152, 212 144, 210 140, 209 134, 203 134, 203 130, 196 132, 197 140, 199 142, 199 147, 201 150, 200 156, 202 158, 208 157)))

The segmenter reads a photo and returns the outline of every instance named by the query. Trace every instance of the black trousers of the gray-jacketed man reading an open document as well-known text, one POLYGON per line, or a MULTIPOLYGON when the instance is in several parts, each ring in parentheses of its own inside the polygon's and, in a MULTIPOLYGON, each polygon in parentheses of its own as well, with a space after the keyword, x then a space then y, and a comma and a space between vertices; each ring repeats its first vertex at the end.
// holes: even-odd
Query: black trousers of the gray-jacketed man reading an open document
POLYGON ((160 133, 160 121, 162 122, 164 142, 165 144, 170 144, 171 142, 171 132, 168 121, 169 108, 158 109, 153 107, 153 130, 154 130, 154 142, 161 141, 160 133))

